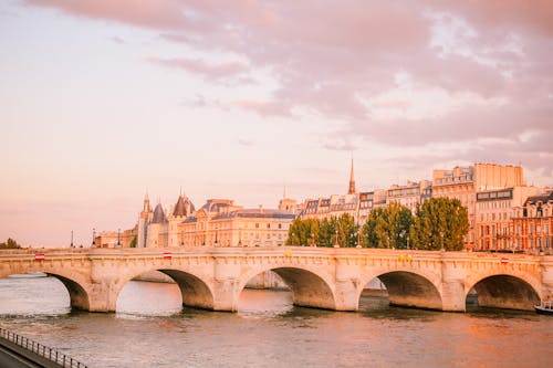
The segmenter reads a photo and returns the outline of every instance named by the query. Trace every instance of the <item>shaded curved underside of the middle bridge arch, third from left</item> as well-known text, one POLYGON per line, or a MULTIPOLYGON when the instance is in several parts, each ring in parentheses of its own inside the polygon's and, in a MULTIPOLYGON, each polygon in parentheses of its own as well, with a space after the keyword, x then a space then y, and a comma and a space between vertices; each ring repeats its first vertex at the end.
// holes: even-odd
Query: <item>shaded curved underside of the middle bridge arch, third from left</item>
POLYGON ((237 299, 251 278, 267 271, 272 271, 278 274, 290 287, 292 291, 293 305, 321 309, 336 309, 334 293, 322 276, 309 270, 290 266, 276 266, 274 269, 260 270, 259 272, 248 274, 242 278, 238 287, 237 299))

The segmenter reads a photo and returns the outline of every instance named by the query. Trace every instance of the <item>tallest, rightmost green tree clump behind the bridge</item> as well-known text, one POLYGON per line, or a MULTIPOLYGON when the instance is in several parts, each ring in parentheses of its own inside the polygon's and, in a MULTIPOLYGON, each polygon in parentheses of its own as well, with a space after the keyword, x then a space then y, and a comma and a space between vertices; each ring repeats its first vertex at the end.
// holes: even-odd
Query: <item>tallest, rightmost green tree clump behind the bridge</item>
POLYGON ((460 200, 431 198, 417 207, 410 239, 417 249, 460 251, 468 231, 468 211, 460 200))

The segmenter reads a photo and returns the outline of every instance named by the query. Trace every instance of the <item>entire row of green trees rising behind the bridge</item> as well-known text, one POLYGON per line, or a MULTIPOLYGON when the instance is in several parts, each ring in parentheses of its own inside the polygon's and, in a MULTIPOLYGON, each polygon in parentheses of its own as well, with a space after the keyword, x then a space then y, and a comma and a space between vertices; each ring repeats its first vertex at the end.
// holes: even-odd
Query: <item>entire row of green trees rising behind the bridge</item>
POLYGON ((458 199, 431 198, 417 207, 415 215, 398 203, 377 208, 361 230, 348 213, 323 220, 296 218, 286 244, 459 251, 468 231, 468 211, 458 199))

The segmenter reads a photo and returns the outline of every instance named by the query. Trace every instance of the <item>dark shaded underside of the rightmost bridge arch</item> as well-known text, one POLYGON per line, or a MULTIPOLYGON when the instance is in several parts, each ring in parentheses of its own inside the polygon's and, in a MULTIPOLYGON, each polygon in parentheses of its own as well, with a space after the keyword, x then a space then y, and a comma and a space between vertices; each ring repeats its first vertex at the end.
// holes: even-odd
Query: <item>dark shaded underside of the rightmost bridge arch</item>
POLYGON ((533 311, 540 304, 540 295, 530 283, 508 274, 481 278, 468 288, 466 301, 472 290, 481 307, 533 311))

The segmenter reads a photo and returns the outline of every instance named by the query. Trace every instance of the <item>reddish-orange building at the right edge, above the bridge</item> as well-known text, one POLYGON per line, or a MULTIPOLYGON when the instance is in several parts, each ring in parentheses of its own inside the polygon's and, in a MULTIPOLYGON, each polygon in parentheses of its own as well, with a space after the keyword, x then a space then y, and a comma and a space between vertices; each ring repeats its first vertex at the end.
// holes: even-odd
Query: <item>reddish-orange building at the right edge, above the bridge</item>
POLYGON ((553 190, 529 197, 512 211, 512 249, 525 252, 553 250, 553 190))

